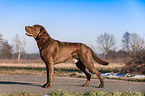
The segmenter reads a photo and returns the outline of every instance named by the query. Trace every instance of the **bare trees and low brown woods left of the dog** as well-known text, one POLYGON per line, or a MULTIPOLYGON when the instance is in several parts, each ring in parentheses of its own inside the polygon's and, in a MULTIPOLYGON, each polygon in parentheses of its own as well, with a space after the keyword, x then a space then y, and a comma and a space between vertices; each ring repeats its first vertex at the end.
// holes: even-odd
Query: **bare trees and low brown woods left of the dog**
POLYGON ((39 59, 38 53, 28 54, 25 52, 25 39, 21 40, 18 34, 13 38, 13 45, 10 45, 7 40, 3 39, 0 34, 0 59, 39 59))

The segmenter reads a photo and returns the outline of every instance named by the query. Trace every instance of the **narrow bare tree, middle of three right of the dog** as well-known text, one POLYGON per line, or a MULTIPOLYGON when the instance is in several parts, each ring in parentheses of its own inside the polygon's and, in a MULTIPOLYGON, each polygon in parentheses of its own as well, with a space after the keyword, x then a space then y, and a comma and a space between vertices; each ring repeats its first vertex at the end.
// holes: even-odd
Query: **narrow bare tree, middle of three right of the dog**
POLYGON ((124 35, 123 35, 123 38, 122 38, 122 46, 123 46, 123 49, 126 50, 127 52, 130 51, 130 33, 129 32, 126 32, 124 35))

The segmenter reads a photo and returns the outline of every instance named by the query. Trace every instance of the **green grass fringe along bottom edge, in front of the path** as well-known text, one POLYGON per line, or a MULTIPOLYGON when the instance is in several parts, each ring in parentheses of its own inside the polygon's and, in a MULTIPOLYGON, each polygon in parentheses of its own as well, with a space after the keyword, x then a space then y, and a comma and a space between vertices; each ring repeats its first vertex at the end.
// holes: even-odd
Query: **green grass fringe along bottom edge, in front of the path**
POLYGON ((141 92, 106 92, 106 91, 89 91, 86 93, 78 93, 78 92, 67 92, 63 90, 54 91, 48 94, 31 94, 28 92, 19 92, 13 94, 0 93, 0 96, 145 96, 144 93, 141 92))

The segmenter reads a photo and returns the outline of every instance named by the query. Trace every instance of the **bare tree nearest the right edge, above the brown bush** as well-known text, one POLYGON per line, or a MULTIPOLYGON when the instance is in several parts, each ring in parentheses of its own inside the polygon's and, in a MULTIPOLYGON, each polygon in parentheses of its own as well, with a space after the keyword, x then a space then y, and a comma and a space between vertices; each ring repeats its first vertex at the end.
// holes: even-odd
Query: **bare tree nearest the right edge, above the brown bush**
POLYGON ((134 56, 139 48, 143 48, 143 45, 144 39, 142 39, 137 33, 131 33, 130 46, 134 56))

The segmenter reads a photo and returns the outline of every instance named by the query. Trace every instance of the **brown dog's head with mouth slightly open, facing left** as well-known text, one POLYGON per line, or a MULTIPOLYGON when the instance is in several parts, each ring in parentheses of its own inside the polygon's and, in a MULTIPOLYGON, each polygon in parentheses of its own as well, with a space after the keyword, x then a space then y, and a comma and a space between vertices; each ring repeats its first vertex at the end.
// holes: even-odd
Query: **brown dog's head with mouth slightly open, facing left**
POLYGON ((26 26, 26 35, 36 38, 41 32, 45 31, 45 28, 41 25, 26 26))

